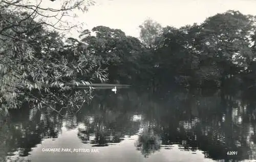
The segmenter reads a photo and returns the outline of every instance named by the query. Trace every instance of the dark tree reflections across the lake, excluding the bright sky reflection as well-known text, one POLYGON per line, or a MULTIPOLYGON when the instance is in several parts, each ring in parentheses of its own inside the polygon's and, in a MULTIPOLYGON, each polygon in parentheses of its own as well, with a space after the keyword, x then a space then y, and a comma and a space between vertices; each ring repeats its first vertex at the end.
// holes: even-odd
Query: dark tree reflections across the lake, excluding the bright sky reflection
POLYGON ((58 138, 65 126, 67 131, 77 129, 80 141, 94 147, 119 145, 138 134, 135 147, 144 157, 161 148, 172 151, 176 144, 180 150, 202 150, 216 160, 256 159, 255 105, 242 93, 120 91, 114 96, 99 92, 69 118, 23 107, 10 112, 10 121, 0 123, 0 156, 27 156, 42 140, 58 138), (228 156, 227 151, 239 154, 228 156))

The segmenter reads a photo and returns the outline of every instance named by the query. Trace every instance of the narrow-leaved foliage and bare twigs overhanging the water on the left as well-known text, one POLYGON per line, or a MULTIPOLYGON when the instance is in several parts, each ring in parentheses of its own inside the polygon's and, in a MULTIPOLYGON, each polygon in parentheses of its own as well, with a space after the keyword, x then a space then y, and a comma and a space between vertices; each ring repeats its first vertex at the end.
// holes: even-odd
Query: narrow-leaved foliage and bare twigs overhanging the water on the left
MULTIPOLYGON (((100 60, 87 50, 69 46, 55 30, 69 30, 66 26, 50 24, 42 11, 62 17, 75 8, 81 9, 85 1, 70 5, 65 2, 61 9, 41 8, 26 1, 2 1, 0 6, 0 108, 7 110, 24 102, 35 103, 38 108, 54 105, 80 109, 92 98, 91 90, 74 91, 78 84, 90 84, 92 80, 106 80, 100 60), (24 12, 23 10, 26 10, 24 12), (38 18, 41 17, 41 18, 38 18)), ((61 21, 61 17, 52 15, 61 21)), ((59 111, 58 111, 59 112, 59 111)))

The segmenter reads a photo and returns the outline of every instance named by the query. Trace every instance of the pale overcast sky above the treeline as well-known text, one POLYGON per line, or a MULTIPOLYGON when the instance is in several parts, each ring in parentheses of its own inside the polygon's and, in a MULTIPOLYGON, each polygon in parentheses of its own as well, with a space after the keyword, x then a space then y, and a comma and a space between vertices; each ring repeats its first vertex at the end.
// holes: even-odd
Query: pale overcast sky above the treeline
MULTIPOLYGON (((227 10, 239 10, 243 14, 256 15, 256 0, 96 0, 89 11, 79 14, 75 22, 84 22, 84 29, 97 25, 121 29, 126 35, 139 37, 138 26, 152 18, 162 26, 179 28, 227 10)), ((52 4, 53 3, 49 3, 52 4)), ((77 37, 73 33, 73 37, 77 37)))

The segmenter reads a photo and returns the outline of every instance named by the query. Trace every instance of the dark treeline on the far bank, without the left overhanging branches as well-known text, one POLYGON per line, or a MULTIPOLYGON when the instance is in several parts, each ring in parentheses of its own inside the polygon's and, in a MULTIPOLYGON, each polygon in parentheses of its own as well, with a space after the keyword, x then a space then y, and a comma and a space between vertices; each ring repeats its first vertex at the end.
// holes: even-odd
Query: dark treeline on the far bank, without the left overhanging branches
POLYGON ((151 19, 140 25, 140 38, 97 26, 77 42, 102 59, 109 83, 146 86, 248 88, 255 83, 255 17, 227 11, 202 24, 162 28, 151 19))

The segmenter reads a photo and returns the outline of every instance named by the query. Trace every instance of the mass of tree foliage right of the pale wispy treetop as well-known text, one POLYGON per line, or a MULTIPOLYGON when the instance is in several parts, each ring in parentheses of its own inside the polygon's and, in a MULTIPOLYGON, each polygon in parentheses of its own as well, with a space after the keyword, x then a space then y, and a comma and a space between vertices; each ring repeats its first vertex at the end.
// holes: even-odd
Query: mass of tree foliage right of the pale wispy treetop
POLYGON ((254 33, 255 17, 238 11, 217 14, 200 25, 167 26, 156 50, 159 68, 165 69, 164 76, 173 75, 186 85, 221 86, 227 77, 247 71, 255 53, 254 33))

